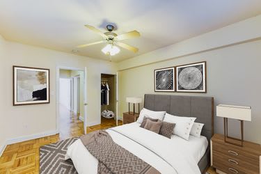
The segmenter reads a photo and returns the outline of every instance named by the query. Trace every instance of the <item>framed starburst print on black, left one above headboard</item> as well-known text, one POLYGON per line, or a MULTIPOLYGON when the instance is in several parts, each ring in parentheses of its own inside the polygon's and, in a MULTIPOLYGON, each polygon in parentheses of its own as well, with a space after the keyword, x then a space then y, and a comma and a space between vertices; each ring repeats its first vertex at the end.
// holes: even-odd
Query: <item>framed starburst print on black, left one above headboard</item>
POLYGON ((155 92, 175 91, 175 68, 154 70, 155 92))

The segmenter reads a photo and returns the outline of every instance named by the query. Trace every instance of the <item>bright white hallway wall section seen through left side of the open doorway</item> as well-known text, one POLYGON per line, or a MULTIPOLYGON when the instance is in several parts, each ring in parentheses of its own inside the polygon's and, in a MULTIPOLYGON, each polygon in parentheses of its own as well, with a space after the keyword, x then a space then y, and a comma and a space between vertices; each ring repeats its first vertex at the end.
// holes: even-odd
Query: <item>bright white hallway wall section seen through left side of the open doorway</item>
POLYGON ((60 104, 71 109, 71 79, 60 78, 60 104))

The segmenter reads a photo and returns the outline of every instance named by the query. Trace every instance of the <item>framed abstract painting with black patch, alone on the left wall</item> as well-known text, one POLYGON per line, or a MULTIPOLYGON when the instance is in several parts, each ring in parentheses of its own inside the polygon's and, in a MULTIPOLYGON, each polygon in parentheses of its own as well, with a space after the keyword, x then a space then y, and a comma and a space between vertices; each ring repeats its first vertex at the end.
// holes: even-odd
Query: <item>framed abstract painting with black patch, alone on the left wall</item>
POLYGON ((49 69, 13 66, 13 105, 49 102, 49 69))

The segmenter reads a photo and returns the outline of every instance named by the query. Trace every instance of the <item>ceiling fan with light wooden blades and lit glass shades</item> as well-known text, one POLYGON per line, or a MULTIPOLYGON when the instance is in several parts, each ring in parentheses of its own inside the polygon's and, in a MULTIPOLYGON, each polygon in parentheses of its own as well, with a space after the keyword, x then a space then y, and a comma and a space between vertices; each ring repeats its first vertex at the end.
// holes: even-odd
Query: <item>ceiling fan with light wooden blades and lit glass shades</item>
POLYGON ((125 40, 125 39, 131 39, 131 38, 137 38, 141 36, 141 34, 134 30, 134 31, 129 31, 128 33, 124 33, 121 35, 117 35, 116 33, 113 32, 114 26, 113 25, 107 25, 106 29, 108 30, 105 33, 102 33, 99 29, 96 29, 94 26, 90 25, 85 25, 88 29, 94 31, 95 33, 99 34, 102 36, 103 40, 97 41, 97 42, 92 42, 84 45, 78 45, 78 48, 83 48, 83 47, 88 47, 90 45, 97 45, 103 42, 107 42, 108 44, 106 47, 102 49, 102 52, 107 55, 114 56, 115 54, 118 54, 120 52, 120 49, 116 46, 118 45, 119 47, 122 47, 124 49, 128 49, 129 51, 132 51, 134 53, 138 52, 139 49, 136 47, 132 47, 131 45, 127 45, 123 42, 119 42, 120 40, 125 40))

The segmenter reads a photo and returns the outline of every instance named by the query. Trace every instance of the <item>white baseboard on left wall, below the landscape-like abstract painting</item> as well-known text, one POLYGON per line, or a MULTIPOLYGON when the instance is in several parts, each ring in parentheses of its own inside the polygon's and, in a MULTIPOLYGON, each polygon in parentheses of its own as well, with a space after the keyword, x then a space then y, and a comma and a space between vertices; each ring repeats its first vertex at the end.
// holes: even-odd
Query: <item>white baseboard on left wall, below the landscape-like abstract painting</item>
POLYGON ((29 135, 29 136, 21 136, 21 137, 15 138, 15 139, 8 139, 6 141, 6 145, 10 145, 10 144, 13 144, 13 143, 19 143, 19 142, 22 142, 22 141, 29 141, 29 140, 32 140, 32 139, 39 139, 39 138, 42 138, 42 137, 45 137, 45 136, 51 136, 51 135, 58 134, 58 133, 59 132, 57 130, 54 130, 54 131, 42 132, 40 134, 32 134, 32 135, 29 135))

